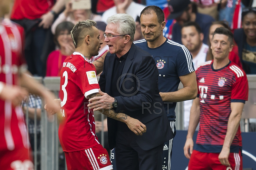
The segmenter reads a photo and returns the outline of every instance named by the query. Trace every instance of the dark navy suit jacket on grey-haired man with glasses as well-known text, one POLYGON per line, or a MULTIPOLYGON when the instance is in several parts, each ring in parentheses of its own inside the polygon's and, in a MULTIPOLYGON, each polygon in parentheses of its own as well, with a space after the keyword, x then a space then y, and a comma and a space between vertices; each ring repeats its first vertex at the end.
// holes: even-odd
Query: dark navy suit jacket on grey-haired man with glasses
MULTIPOLYGON (((110 96, 115 55, 107 54, 99 80, 100 89, 110 96)), ((158 74, 151 55, 132 43, 118 82, 120 96, 116 97, 116 112, 123 112, 146 125, 146 133, 142 136, 134 134, 137 144, 143 150, 150 150, 173 138, 170 122, 159 95, 158 74)), ((117 120, 108 118, 110 149, 116 145, 116 127, 117 120)))

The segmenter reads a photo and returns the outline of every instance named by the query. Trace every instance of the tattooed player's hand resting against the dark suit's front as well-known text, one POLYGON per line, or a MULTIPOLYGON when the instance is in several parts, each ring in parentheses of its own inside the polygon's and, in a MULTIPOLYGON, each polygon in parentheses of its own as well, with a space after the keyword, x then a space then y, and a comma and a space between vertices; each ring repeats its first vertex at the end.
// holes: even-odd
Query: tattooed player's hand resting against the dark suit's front
POLYGON ((142 135, 142 133, 145 133, 147 131, 146 125, 141 123, 139 120, 134 119, 130 116, 127 117, 126 125, 128 128, 135 133, 136 135, 142 135))

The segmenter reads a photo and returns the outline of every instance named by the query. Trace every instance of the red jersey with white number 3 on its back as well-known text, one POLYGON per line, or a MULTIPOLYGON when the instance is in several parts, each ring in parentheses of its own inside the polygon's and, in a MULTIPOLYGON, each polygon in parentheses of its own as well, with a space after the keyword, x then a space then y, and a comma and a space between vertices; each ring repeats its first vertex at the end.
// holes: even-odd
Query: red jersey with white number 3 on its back
POLYGON ((99 144, 88 96, 99 92, 96 70, 82 54, 67 57, 60 72, 61 114, 59 138, 63 151, 81 151, 99 144))

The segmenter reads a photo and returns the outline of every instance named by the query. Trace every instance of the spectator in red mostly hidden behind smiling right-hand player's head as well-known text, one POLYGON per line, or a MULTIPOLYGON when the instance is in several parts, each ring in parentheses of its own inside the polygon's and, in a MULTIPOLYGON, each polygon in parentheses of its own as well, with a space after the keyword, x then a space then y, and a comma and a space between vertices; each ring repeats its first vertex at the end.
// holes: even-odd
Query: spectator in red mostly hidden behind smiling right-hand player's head
MULTIPOLYGON (((209 47, 211 47, 211 42, 212 42, 212 35, 215 31, 216 28, 218 27, 224 27, 224 28, 227 28, 230 30, 230 28, 228 27, 228 23, 227 22, 224 22, 224 21, 215 21, 212 23, 210 29, 209 29, 209 40, 208 40, 208 44, 209 44, 209 47)), ((239 56, 238 56, 238 47, 235 45, 235 43, 233 43, 233 49, 231 52, 229 52, 229 60, 230 61, 233 61, 236 65, 238 65, 239 67, 242 68, 242 64, 240 62, 240 59, 239 59, 239 56)), ((206 61, 208 60, 212 60, 213 59, 213 55, 212 55, 212 49, 209 48, 209 51, 207 53, 207 56, 206 56, 206 61)))

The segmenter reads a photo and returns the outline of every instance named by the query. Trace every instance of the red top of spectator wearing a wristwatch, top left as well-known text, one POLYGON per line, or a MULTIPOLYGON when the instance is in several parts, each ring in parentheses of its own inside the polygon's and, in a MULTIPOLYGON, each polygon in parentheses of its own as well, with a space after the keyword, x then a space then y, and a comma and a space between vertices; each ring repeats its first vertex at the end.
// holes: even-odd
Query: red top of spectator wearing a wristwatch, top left
POLYGON ((11 19, 37 19, 51 11, 53 0, 15 0, 11 19))

